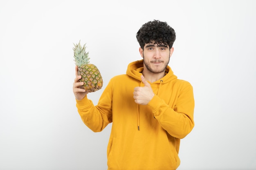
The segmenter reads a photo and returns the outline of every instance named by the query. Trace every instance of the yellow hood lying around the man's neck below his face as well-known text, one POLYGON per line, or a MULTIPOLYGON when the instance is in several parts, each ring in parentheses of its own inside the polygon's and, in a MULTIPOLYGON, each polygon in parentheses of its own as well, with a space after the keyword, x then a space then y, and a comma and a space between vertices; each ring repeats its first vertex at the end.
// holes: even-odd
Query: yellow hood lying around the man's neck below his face
MULTIPOLYGON (((128 65, 126 74, 129 75, 130 77, 133 77, 139 81, 141 81, 141 72, 143 71, 143 60, 138 60, 135 62, 131 62, 128 65)), ((162 79, 159 79, 155 82, 153 82, 152 84, 165 84, 170 82, 173 79, 177 79, 177 76, 173 74, 173 71, 171 70, 170 66, 166 67, 165 70, 165 76, 162 79)))

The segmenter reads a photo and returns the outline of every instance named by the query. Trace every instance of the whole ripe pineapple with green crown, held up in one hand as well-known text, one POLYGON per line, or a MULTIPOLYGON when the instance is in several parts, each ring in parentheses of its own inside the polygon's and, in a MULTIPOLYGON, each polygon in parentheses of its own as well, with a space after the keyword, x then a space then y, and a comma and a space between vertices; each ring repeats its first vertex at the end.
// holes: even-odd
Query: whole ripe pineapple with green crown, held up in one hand
POLYGON ((74 44, 74 61, 79 68, 78 75, 82 76, 80 82, 84 82, 81 88, 89 92, 98 91, 103 85, 101 73, 94 64, 89 64, 89 52, 86 52, 85 49, 85 44, 82 48, 80 41, 79 44, 74 44))

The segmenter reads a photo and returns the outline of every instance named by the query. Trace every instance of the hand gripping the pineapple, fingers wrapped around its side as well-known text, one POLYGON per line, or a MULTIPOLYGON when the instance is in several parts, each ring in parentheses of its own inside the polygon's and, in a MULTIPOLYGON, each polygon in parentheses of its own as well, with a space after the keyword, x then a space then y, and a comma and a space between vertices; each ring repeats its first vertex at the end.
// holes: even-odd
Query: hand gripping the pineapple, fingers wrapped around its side
POLYGON ((73 83, 73 93, 77 100, 83 99, 89 92, 85 91, 85 89, 80 88, 80 86, 83 86, 83 82, 79 82, 79 79, 82 78, 81 75, 77 75, 78 72, 78 66, 76 66, 76 78, 73 83))

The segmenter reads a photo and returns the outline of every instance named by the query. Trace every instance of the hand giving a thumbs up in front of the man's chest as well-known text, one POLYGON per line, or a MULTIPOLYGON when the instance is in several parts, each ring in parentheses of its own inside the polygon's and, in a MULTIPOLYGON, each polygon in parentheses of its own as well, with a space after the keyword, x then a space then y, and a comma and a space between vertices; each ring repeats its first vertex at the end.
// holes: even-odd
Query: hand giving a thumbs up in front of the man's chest
POLYGON ((135 87, 133 92, 133 98, 135 99, 135 103, 141 105, 147 105, 148 102, 154 97, 154 92, 147 82, 145 77, 141 75, 141 80, 144 83, 144 87, 135 87))

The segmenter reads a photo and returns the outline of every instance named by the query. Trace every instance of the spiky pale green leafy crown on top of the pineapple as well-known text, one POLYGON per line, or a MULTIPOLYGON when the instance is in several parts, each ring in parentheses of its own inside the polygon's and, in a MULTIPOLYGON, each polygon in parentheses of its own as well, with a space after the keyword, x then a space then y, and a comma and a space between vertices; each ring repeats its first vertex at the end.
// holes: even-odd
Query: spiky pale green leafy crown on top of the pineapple
MULTIPOLYGON (((73 43, 74 44, 74 43, 73 43)), ((80 44, 80 41, 78 44, 74 44, 73 51, 74 51, 74 62, 76 66, 84 66, 85 64, 89 64, 89 52, 86 52, 86 43, 83 45, 83 47, 80 44)))

